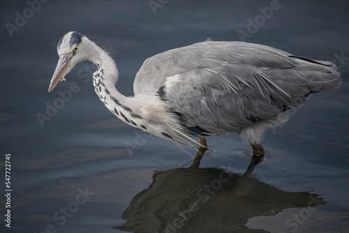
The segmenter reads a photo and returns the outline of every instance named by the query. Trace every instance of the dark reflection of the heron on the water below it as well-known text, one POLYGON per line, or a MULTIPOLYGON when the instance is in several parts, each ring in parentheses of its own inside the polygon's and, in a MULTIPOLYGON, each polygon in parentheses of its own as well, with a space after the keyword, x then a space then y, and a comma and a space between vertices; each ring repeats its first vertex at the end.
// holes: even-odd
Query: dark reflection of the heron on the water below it
MULTIPOLYGON (((325 204, 309 192, 286 192, 249 175, 262 158, 253 156, 245 174, 217 168, 155 172, 153 183, 122 213, 125 232, 266 232, 245 225, 255 216, 325 204)), ((309 207, 310 208, 310 207, 309 207)))

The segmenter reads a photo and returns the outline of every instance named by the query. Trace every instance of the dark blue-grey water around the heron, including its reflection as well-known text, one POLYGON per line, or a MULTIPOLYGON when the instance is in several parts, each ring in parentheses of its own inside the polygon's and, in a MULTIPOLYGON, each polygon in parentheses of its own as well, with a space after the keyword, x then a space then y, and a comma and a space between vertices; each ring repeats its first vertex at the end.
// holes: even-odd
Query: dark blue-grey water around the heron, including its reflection
POLYGON ((11 227, 1 219, 1 232, 348 232, 347 3, 170 0, 152 10, 149 1, 33 2, 34 10, 1 3, 1 187, 4 194, 10 153, 12 189, 11 227), (27 20, 16 22, 16 12, 27 20), (111 52, 126 96, 147 57, 208 37, 335 61, 343 84, 267 131, 270 154, 251 177, 242 177, 251 148, 235 134, 209 137, 214 151, 201 169, 185 170, 191 156, 104 107, 90 63, 47 93, 57 42, 72 30, 111 52), (59 103, 72 82, 78 91, 59 103), (37 114, 54 104, 61 108, 40 123, 37 114))

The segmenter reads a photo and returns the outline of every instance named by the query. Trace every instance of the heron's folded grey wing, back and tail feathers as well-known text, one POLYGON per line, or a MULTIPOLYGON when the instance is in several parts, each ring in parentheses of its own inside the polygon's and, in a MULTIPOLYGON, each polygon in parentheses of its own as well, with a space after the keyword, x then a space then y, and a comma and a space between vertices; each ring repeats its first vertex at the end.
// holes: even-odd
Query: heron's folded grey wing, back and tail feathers
POLYGON ((134 87, 135 94, 163 89, 185 126, 223 134, 296 107, 311 92, 336 89, 340 77, 327 61, 265 45, 205 42, 151 57, 134 87))

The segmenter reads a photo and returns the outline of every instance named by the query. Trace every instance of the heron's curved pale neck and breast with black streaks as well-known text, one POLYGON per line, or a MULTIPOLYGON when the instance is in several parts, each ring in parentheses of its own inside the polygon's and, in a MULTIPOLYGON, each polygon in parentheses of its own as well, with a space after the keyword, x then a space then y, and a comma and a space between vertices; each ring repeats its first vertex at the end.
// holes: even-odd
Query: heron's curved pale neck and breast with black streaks
POLYGON ((105 107, 128 125, 193 147, 189 141, 195 140, 186 135, 177 117, 158 96, 141 93, 135 97, 126 97, 119 93, 115 87, 119 72, 114 60, 95 43, 90 40, 87 43, 91 43, 87 59, 98 68, 93 74, 94 89, 105 107))

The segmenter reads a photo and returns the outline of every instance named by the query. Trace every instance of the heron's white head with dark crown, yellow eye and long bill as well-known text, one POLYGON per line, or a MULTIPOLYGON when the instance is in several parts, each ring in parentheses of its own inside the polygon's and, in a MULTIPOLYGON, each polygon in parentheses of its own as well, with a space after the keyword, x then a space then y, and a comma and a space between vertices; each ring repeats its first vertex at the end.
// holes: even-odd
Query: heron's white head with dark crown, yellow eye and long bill
POLYGON ((49 92, 77 63, 86 59, 84 39, 84 36, 77 31, 70 31, 59 40, 57 45, 59 61, 50 82, 49 92))

